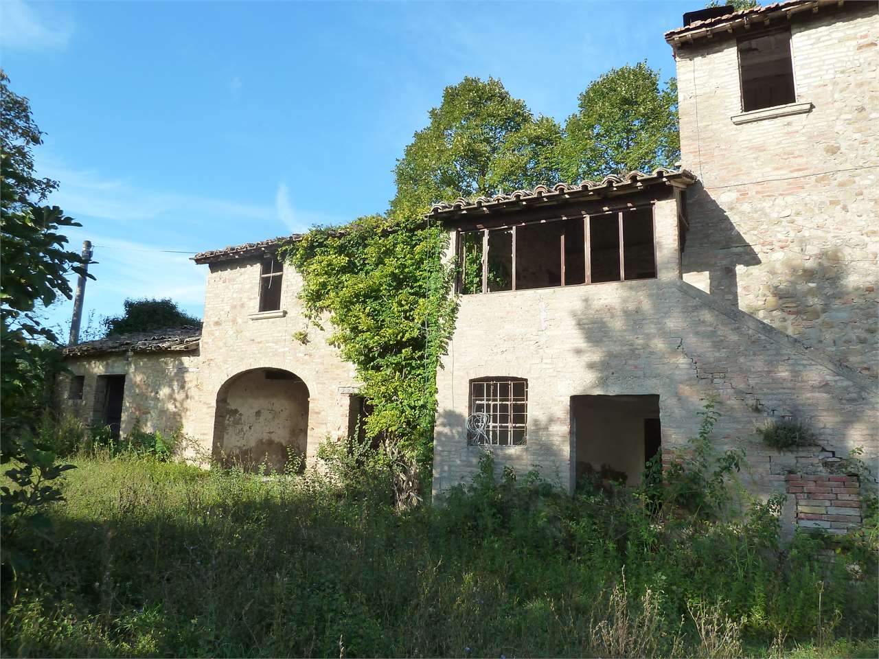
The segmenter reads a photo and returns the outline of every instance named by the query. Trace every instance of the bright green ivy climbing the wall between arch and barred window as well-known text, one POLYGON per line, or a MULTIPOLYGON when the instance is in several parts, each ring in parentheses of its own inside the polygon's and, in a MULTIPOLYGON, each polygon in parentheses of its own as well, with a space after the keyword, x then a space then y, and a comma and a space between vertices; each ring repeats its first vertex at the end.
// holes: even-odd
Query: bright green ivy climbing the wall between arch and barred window
POLYGON ((454 328, 447 234, 422 217, 361 217, 315 228, 281 248, 303 278, 309 322, 351 362, 372 406, 365 431, 432 464, 436 370, 454 328))

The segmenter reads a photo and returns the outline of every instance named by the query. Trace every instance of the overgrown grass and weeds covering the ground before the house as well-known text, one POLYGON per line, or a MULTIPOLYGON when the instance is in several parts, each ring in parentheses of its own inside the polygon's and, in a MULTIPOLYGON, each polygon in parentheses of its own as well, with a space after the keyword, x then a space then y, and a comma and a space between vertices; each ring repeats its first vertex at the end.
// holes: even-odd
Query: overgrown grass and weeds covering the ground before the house
POLYGON ((875 547, 780 551, 767 506, 660 523, 486 461, 399 512, 316 474, 73 461, 53 540, 4 588, 4 655, 876 655, 875 547))

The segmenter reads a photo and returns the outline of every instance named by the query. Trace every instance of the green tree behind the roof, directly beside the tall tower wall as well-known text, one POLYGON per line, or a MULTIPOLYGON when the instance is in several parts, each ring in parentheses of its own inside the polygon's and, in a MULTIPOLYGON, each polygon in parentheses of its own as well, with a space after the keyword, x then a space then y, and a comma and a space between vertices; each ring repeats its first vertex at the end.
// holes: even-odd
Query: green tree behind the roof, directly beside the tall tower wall
POLYGON ((639 62, 611 69, 580 94, 566 123, 562 177, 575 182, 650 171, 680 157, 678 85, 639 62))

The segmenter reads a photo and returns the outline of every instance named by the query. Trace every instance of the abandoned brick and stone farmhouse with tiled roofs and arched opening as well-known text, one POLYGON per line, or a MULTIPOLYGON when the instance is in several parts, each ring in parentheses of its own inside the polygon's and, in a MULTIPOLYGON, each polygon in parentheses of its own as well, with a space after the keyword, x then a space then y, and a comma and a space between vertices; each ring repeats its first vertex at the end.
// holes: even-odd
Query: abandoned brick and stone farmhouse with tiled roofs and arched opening
MULTIPOLYGON (((437 375, 435 495, 469 481, 486 445, 498 468, 563 488, 588 473, 636 483, 660 447, 672 459, 696 434, 712 397, 719 447, 745 448, 762 495, 802 493, 803 479, 856 487, 835 467, 855 447, 875 466, 877 5, 701 10, 665 40, 681 163, 428 215, 449 232, 460 301, 437 375), (755 429, 785 418, 817 444, 769 449, 755 429)), ((292 339, 301 278, 280 240, 195 257, 202 328, 70 346, 64 405, 275 464, 314 462, 324 438, 352 433, 355 374, 320 330, 292 339)), ((788 515, 845 532, 857 497, 825 489, 822 510, 788 515)))

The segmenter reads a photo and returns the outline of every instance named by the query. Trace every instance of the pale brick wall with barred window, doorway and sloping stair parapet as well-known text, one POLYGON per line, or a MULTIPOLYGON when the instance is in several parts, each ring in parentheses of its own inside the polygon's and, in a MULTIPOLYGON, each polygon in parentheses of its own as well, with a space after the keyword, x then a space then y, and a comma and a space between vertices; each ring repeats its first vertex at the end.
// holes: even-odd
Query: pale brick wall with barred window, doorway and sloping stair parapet
POLYGON ((527 444, 494 447, 498 470, 536 469, 564 488, 574 395, 658 395, 664 449, 695 436, 716 395, 716 445, 745 449, 743 478, 764 495, 785 489, 773 468, 784 455, 756 432, 767 417, 795 416, 827 450, 861 446, 875 464, 875 381, 681 281, 673 201, 657 203, 656 221, 658 279, 461 295, 438 373, 435 494, 476 474, 483 447, 464 430, 469 380, 488 375, 528 380, 527 444))

